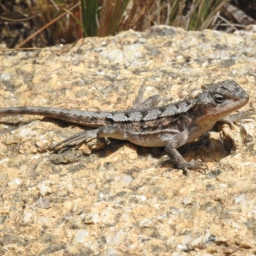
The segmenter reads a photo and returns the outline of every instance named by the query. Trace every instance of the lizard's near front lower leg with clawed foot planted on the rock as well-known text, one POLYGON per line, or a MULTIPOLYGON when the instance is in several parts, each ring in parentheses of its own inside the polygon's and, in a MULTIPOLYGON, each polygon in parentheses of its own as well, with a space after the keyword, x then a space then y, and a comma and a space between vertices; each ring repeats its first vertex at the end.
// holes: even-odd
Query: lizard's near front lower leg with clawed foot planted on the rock
POLYGON ((191 170, 203 170, 205 172, 205 168, 208 169, 207 164, 203 163, 200 159, 191 160, 191 162, 187 162, 174 147, 173 143, 169 141, 165 146, 165 151, 170 157, 173 166, 177 169, 182 169, 184 175, 188 175, 188 169, 191 170))

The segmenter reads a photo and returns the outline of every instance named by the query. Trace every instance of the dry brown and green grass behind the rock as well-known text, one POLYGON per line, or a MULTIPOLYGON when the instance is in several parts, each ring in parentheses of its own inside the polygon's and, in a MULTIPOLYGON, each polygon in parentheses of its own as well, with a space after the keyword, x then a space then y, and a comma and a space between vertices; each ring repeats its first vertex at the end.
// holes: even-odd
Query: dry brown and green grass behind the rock
MULTIPOLYGON (((232 32, 255 20, 228 0, 15 0, 0 3, 0 42, 9 48, 72 43, 156 24, 232 32)), ((244 3, 244 0, 243 0, 244 3)), ((252 8, 253 0, 248 0, 252 8), (252 2, 252 3, 251 3, 252 2)))

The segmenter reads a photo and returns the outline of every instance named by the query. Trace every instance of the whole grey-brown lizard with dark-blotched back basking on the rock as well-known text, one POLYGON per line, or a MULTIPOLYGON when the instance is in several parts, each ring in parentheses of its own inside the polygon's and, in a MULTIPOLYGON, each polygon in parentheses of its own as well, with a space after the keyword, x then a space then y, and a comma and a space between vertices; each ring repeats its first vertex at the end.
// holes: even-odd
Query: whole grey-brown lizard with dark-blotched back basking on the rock
MULTIPOLYGON (((194 98, 157 106, 159 96, 154 95, 142 102, 145 81, 138 96, 127 111, 82 111, 50 107, 0 108, 1 115, 42 115, 70 123, 93 127, 63 140, 51 149, 70 145, 81 145, 97 138, 113 138, 131 141, 143 147, 164 147, 173 167, 182 169, 187 175, 190 170, 204 170, 207 164, 200 159, 187 162, 177 148, 196 140, 212 129, 214 124, 248 103, 248 94, 229 79, 213 83, 194 98)), ((232 123, 232 118, 228 120, 232 123)))

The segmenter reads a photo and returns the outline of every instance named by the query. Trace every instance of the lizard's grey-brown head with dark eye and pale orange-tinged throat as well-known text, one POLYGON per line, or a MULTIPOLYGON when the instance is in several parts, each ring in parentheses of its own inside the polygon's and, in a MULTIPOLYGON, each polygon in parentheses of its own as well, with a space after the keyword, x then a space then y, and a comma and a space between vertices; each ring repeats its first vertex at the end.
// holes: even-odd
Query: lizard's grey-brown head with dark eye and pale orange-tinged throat
POLYGON ((248 100, 248 94, 234 80, 211 84, 198 96, 196 122, 216 122, 242 108, 248 100))

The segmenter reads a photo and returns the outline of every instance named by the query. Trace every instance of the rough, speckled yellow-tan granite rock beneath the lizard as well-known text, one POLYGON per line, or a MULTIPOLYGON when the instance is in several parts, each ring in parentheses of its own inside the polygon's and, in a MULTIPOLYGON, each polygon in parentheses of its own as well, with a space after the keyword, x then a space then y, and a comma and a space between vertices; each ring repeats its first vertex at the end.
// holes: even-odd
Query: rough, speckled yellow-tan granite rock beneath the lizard
MULTIPOLYGON (((256 29, 255 29, 256 30, 256 29)), ((256 33, 156 26, 38 51, 1 51, 0 107, 84 110, 162 104, 234 79, 255 109, 256 33)), ((255 255, 256 122, 220 124, 182 147, 207 174, 182 175, 161 150, 125 141, 88 153, 49 145, 83 131, 42 116, 0 119, 1 255, 255 255)))

